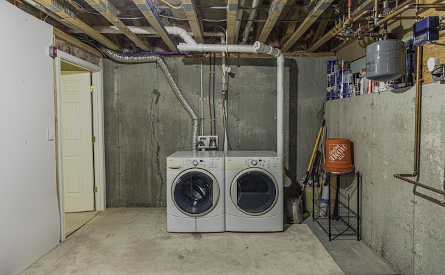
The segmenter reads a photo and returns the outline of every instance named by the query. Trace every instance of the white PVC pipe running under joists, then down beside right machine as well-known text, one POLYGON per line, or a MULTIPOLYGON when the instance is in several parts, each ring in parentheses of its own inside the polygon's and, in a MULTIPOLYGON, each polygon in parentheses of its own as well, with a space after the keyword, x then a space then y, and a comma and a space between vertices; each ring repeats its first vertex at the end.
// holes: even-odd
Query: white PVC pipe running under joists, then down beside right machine
POLYGON ((262 42, 254 42, 252 45, 238 44, 178 44, 179 51, 197 52, 225 52, 225 53, 267 53, 277 58, 277 155, 283 156, 284 128, 283 128, 283 102, 284 102, 284 57, 279 49, 265 45, 262 42))

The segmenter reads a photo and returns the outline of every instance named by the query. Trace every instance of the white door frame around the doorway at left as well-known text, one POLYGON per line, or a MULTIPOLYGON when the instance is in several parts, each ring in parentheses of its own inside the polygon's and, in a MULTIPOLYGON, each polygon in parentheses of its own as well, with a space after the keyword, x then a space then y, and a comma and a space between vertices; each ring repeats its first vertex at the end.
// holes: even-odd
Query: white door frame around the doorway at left
POLYGON ((55 77, 56 77, 56 167, 57 167, 57 181, 58 181, 58 201, 59 201, 59 215, 60 215, 60 241, 65 240, 65 203, 63 190, 63 165, 62 165, 62 130, 60 127, 61 121, 58 117, 61 115, 61 62, 70 63, 76 67, 81 67, 91 73, 91 82, 95 86, 95 92, 92 93, 92 131, 96 137, 96 142, 93 143, 93 163, 95 173, 95 210, 104 211, 106 209, 106 192, 105 192, 105 150, 104 150, 104 88, 103 88, 103 69, 100 66, 89 63, 86 60, 76 58, 75 56, 57 51, 55 58, 55 77))

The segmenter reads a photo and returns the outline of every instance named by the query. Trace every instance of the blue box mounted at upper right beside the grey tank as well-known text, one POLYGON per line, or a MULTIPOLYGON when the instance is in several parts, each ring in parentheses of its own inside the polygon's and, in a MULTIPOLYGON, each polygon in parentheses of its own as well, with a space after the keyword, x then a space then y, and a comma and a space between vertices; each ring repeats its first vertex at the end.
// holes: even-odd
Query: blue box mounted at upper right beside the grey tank
POLYGON ((439 17, 430 16, 421 19, 412 26, 413 45, 421 46, 439 39, 439 17))

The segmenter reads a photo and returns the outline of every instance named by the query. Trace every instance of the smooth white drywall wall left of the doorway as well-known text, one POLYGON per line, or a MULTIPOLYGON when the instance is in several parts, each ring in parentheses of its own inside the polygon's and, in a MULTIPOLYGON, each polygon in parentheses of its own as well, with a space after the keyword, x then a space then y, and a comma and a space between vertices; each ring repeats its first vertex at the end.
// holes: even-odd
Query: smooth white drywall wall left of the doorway
POLYGON ((18 274, 59 242, 52 26, 0 1, 0 274, 18 274), (32 42, 32 47, 30 43, 32 42))

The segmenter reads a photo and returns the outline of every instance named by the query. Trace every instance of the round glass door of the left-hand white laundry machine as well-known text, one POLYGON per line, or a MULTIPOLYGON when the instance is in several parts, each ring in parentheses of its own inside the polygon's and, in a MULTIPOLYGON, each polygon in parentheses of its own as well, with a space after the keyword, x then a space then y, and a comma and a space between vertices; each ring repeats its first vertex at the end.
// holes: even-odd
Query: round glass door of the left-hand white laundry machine
POLYGON ((172 200, 182 213, 191 217, 207 215, 220 197, 216 178, 207 170, 186 169, 172 184, 172 200))

